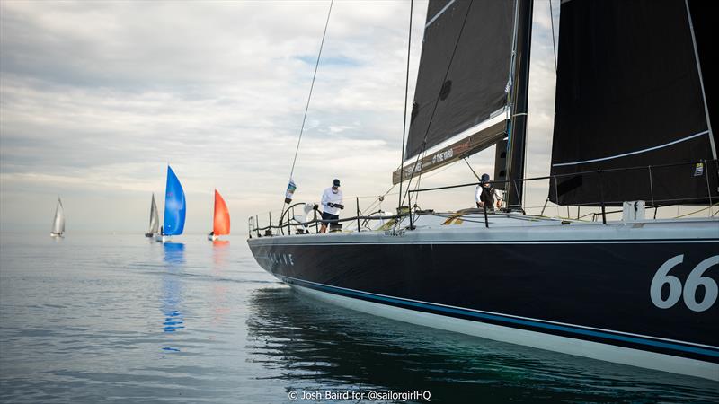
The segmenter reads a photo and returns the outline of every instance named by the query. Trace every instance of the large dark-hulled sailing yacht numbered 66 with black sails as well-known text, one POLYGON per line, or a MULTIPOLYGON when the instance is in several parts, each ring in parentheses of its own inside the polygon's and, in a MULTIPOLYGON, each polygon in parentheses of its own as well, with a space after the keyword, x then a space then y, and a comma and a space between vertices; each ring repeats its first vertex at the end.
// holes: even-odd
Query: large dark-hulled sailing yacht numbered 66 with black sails
POLYGON ((651 219, 646 207, 719 200, 703 7, 562 2, 551 171, 534 180, 557 206, 600 209, 586 222, 522 208, 533 2, 431 1, 393 182, 497 145, 506 205, 415 208, 330 234, 251 217, 254 258, 352 310, 719 381, 719 219, 651 219), (610 206, 621 220, 608 220, 610 206))

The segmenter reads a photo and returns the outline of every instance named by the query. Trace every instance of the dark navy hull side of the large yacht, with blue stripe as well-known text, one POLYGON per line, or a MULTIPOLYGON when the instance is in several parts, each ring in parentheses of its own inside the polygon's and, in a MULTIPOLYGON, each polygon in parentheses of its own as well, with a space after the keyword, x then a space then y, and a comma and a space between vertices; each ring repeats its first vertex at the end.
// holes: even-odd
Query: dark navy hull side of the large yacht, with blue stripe
MULTIPOLYGON (((695 311, 679 299, 661 308, 651 291, 652 282, 662 286, 662 265, 678 256, 668 275, 688 285, 692 271, 719 253, 717 239, 362 243, 307 237, 317 242, 249 243, 262 268, 289 285, 701 361, 719 378, 719 303, 695 311)), ((719 266, 702 276, 717 282, 719 266)), ((670 297, 670 285, 660 287, 660 305, 670 297)), ((686 298, 708 303, 712 296, 699 286, 686 298)))

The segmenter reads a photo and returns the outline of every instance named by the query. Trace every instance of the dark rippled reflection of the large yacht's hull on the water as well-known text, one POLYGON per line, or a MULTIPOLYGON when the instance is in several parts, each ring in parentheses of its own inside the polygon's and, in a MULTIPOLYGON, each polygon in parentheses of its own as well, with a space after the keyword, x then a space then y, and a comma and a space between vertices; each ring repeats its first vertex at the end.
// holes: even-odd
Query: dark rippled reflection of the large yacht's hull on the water
POLYGON ((715 401, 701 379, 388 321, 287 287, 249 301, 253 362, 288 390, 431 391, 439 401, 715 401))

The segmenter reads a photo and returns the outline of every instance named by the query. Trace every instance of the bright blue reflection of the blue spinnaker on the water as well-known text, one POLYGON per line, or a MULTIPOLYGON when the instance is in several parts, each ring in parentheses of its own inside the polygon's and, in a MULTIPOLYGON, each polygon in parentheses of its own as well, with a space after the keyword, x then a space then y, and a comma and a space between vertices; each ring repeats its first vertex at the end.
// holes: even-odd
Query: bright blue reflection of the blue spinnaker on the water
MULTIPOLYGON (((165 242, 163 275, 163 332, 174 333, 185 328, 184 317, 180 311, 182 304, 182 284, 180 276, 185 264, 185 245, 181 242, 165 242)), ((180 352, 177 347, 163 347, 164 351, 180 352)))

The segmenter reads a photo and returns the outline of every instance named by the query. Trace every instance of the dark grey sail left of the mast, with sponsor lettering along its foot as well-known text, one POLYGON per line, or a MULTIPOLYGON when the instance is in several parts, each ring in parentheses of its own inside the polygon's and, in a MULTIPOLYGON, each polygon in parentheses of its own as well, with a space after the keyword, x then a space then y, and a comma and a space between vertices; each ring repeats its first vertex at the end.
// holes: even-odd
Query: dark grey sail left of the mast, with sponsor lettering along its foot
MULTIPOLYGON (((439 168, 506 136, 501 116, 509 89, 514 8, 511 1, 430 1, 405 162, 457 140, 405 167, 406 172, 439 168), (495 117, 500 118, 488 124, 495 117)), ((398 181, 395 171, 393 182, 398 181)))

